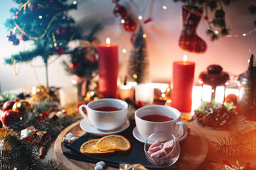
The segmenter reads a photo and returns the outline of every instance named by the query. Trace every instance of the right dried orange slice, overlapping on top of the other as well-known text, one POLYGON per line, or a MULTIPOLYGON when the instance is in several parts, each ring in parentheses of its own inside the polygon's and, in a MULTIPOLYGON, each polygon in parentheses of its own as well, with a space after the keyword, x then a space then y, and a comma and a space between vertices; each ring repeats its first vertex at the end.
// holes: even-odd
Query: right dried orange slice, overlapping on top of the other
POLYGON ((131 148, 129 140, 121 135, 107 135, 102 137, 97 141, 96 146, 101 151, 112 149, 127 151, 131 148))

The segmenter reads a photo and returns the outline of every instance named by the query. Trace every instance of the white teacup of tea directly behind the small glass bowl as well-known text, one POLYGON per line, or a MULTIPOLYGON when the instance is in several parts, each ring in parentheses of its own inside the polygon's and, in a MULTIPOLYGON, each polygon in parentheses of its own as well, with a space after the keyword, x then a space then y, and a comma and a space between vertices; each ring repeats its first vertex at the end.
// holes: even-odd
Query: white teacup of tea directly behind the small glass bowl
POLYGON ((154 105, 139 108, 135 112, 135 123, 139 134, 145 138, 159 131, 176 135, 179 126, 182 132, 181 135, 176 136, 177 139, 187 132, 186 124, 181 121, 181 112, 169 106, 154 105))

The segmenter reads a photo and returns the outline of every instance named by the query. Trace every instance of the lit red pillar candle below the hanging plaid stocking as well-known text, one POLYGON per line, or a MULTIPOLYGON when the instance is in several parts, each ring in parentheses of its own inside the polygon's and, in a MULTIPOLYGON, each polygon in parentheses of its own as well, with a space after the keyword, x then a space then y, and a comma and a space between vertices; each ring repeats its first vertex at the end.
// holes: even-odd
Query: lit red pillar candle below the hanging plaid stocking
POLYGON ((191 112, 192 89, 195 63, 183 61, 174 62, 173 89, 171 91, 171 106, 181 112, 191 112))

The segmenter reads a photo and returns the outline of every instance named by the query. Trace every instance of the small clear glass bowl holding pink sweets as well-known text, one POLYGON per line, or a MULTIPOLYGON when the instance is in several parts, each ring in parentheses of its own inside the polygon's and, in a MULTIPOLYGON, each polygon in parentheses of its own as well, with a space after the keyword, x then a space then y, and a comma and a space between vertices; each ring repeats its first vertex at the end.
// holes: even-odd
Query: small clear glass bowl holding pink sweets
MULTIPOLYGON (((154 164, 155 166, 171 166, 174 164, 178 157, 181 154, 180 145, 178 143, 178 140, 176 140, 176 137, 172 135, 169 132, 159 131, 154 132, 152 135, 150 135, 144 144, 144 152, 146 154, 146 158, 151 162, 151 164, 154 164), (164 157, 151 157, 148 153, 149 147, 154 144, 158 140, 161 142, 161 145, 164 145, 165 142, 173 141, 173 148, 167 152, 167 154, 164 157)), ((166 153, 165 152, 165 153, 166 153)))

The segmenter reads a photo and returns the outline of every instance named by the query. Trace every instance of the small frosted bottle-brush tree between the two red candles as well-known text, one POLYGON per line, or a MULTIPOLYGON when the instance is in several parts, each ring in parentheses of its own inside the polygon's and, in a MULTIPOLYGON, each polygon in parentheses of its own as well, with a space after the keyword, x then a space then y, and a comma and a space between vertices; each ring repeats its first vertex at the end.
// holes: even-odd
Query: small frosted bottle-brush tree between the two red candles
POLYGON ((142 29, 142 25, 139 25, 139 29, 135 35, 133 41, 133 50, 129 57, 128 66, 128 79, 136 81, 137 84, 141 84, 146 81, 148 74, 149 60, 146 54, 146 40, 142 29))

